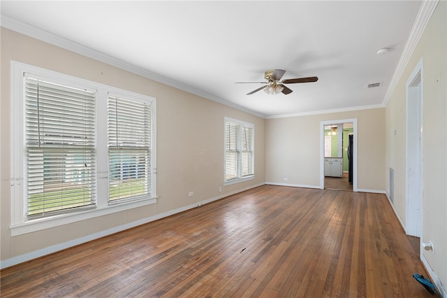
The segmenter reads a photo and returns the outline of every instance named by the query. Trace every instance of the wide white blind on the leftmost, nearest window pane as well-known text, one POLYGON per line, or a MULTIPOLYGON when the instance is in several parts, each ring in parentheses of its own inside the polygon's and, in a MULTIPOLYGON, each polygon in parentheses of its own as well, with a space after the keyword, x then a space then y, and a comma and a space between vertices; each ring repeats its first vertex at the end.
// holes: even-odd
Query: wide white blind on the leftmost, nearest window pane
POLYGON ((27 218, 96 205, 95 93, 24 79, 27 218))

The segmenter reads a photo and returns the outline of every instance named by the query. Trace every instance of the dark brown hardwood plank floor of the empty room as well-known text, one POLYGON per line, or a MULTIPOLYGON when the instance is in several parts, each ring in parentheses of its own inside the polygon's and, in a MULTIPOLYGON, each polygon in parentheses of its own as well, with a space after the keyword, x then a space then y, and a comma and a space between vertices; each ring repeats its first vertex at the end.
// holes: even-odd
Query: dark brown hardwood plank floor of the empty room
POLYGON ((1 297, 432 297, 383 194, 263 185, 1 271, 1 297))

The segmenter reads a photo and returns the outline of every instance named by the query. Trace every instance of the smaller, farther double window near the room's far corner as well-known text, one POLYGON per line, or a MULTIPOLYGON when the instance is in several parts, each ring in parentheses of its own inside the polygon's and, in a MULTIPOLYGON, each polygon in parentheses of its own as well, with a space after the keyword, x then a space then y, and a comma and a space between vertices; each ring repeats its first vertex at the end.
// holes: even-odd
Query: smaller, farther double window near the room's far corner
POLYGON ((225 184, 254 178, 254 125, 225 118, 225 184))

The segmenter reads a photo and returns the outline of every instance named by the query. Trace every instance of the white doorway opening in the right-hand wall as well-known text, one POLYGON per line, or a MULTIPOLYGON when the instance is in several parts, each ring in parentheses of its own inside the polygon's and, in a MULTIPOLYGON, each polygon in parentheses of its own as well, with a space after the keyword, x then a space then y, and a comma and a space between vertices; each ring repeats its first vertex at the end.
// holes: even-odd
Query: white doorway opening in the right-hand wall
POLYGON ((406 234, 422 236, 423 62, 406 82, 406 234))

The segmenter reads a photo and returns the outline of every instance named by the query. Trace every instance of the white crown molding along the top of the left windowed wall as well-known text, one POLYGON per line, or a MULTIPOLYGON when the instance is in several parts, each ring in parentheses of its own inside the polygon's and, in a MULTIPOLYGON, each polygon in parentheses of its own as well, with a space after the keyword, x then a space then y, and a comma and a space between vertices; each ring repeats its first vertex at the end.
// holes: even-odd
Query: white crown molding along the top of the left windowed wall
POLYGON ((144 78, 148 78, 149 80, 155 80, 156 82, 168 85, 170 87, 175 87, 179 90, 183 90, 189 92, 191 94, 195 94, 198 97, 203 97, 205 99, 210 99, 211 101, 215 101, 219 104, 223 104, 225 106, 230 106, 231 108, 235 108, 237 110, 250 113, 252 115, 256 115, 261 118, 265 118, 265 115, 262 113, 258 113, 256 111, 252 111, 249 108, 245 108, 243 106, 239 106, 237 104, 233 104, 230 101, 226 101, 225 99, 221 99, 220 97, 215 97, 212 94, 208 94, 201 90, 197 90, 193 87, 189 87, 182 83, 179 83, 175 80, 171 80, 170 78, 166 78, 164 76, 160 76, 156 73, 152 73, 143 69, 139 66, 135 66, 128 62, 124 62, 121 59, 117 59, 110 55, 106 55, 103 52, 99 52, 97 50, 86 47, 85 45, 81 45, 80 43, 75 43, 74 41, 70 41, 64 37, 58 36, 56 34, 52 34, 49 31, 45 31, 43 29, 39 29, 31 26, 30 24, 21 22, 19 20, 15 20, 13 17, 8 17, 7 15, 1 15, 0 18, 1 27, 6 29, 10 29, 16 31, 20 34, 24 34, 26 36, 36 38, 39 41, 43 41, 45 43, 50 43, 52 45, 56 45, 59 48, 64 48, 66 50, 70 50, 71 52, 75 52, 85 57, 89 57, 99 62, 103 62, 105 64, 115 66, 119 69, 123 69, 124 71, 129 71, 131 73, 135 73, 138 76, 142 76, 144 78))

